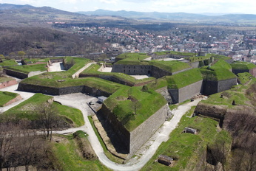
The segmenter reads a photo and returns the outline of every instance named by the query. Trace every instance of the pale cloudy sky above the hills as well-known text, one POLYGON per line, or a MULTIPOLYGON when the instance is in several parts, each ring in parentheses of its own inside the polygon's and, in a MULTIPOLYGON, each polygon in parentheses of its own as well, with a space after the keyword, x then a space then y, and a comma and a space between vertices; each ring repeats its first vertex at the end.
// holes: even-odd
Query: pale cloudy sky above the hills
POLYGON ((103 9, 160 13, 256 14, 255 0, 0 0, 0 3, 47 6, 70 12, 103 9))

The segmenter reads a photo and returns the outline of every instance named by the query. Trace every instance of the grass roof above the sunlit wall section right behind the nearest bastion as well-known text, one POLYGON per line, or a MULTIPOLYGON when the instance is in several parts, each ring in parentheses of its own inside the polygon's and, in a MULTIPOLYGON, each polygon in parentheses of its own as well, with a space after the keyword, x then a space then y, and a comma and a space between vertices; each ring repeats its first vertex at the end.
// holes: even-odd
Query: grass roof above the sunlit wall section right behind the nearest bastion
POLYGON ((183 88, 192 83, 203 80, 201 71, 199 69, 190 69, 172 76, 166 76, 168 88, 183 88))

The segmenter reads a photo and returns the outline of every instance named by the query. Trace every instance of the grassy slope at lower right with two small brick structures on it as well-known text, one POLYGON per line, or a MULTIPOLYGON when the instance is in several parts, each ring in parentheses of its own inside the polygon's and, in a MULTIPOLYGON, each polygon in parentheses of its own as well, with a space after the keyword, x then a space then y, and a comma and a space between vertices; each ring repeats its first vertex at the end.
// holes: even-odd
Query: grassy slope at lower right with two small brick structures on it
MULTIPOLYGON (((192 109, 193 110, 193 109, 192 109)), ((217 131, 218 122, 213 119, 195 116, 183 116, 178 128, 170 133, 170 139, 163 142, 155 155, 141 170, 193 170, 198 164, 207 144, 213 144, 217 139, 225 140, 226 144, 232 142, 231 136, 225 130, 217 131), (198 134, 182 133, 185 127, 198 130, 198 134), (173 167, 166 167, 155 162, 159 155, 178 158, 173 167)))

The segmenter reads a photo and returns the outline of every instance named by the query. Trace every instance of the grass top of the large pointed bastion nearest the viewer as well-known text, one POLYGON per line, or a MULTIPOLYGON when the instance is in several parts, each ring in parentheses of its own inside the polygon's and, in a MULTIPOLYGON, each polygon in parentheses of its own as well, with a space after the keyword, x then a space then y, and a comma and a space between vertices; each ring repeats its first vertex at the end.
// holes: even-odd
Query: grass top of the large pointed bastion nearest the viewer
POLYGON ((105 100, 104 104, 127 130, 132 131, 162 108, 166 100, 155 91, 144 92, 141 87, 132 87, 119 89, 105 100), (136 102, 128 100, 129 96, 136 102))

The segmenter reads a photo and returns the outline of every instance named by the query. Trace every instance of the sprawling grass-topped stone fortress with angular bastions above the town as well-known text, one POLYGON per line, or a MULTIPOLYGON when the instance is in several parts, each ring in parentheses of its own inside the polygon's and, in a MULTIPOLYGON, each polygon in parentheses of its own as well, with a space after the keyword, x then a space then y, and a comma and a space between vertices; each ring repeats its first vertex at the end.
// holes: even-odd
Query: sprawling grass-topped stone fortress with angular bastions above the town
MULTIPOLYGON (((64 82, 45 80, 45 77, 50 76, 44 73, 21 81, 18 90, 52 95, 82 92, 97 97, 102 95, 109 97, 104 101, 97 115, 112 126, 124 148, 127 149, 128 157, 131 157, 164 121, 172 116, 167 102, 179 103, 197 94, 215 94, 237 85, 237 77, 232 73, 229 64, 230 59, 216 57, 217 60, 214 60, 211 55, 195 57, 191 54, 166 53, 166 55, 152 55, 152 59, 158 60, 146 60, 150 56, 145 54, 119 55, 117 62, 113 64, 112 73, 84 71, 79 78, 73 79, 74 83, 67 77, 62 78, 64 82), (186 59, 163 60, 169 56, 179 60, 181 57, 186 59), (118 77, 116 73, 128 74, 128 76, 146 74, 155 78, 141 80, 140 84, 135 86, 135 82, 125 77, 118 77), (45 81, 52 81, 53 84, 47 86, 45 81)), ((69 63, 64 64, 71 67, 69 63)), ((252 73, 256 71, 255 66, 250 66, 248 69, 252 73)))

